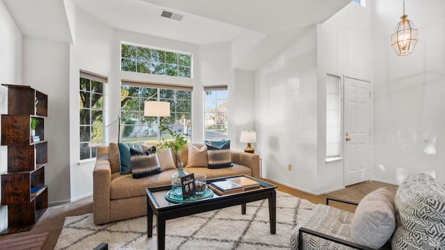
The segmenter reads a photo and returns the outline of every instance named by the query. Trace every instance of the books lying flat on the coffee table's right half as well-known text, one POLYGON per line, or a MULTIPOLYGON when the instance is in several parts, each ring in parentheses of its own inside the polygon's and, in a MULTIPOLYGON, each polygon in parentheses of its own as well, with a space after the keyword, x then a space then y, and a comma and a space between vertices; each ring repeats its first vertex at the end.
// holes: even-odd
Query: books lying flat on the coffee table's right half
POLYGON ((233 194, 236 192, 259 188, 259 183, 244 176, 226 178, 223 181, 214 181, 209 186, 216 194, 233 194))

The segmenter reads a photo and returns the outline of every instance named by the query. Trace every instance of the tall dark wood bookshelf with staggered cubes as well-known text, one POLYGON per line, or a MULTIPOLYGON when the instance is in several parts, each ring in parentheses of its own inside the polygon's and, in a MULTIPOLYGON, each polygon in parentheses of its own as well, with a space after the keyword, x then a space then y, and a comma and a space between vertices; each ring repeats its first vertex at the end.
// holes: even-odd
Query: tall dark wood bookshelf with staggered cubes
POLYGON ((44 167, 48 142, 44 140, 48 97, 26 85, 2 84, 8 88, 8 114, 1 115, 1 145, 8 146, 8 172, 1 174, 1 205, 8 206, 8 228, 1 234, 29 231, 48 208, 44 167), (31 138, 31 118, 39 141, 31 138), (40 188, 32 193, 31 188, 40 188))

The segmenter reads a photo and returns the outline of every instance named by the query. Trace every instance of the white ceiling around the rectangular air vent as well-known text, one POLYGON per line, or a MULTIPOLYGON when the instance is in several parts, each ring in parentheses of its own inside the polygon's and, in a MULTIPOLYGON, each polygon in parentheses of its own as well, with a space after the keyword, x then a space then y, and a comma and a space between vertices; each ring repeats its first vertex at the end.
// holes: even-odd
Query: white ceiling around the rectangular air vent
POLYGON ((323 22, 350 0, 74 0, 115 28, 193 44, 227 42, 245 31, 270 35, 323 22), (181 21, 162 10, 184 14, 181 21))

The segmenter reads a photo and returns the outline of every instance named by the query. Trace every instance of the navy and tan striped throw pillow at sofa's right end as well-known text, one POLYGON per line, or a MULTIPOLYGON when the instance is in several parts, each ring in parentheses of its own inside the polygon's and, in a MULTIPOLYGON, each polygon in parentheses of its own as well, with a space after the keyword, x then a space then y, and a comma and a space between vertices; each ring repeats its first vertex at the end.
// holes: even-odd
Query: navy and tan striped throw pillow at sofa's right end
MULTIPOLYGON (((207 142, 207 141, 206 141, 207 142)), ((219 147, 206 143, 207 146, 207 159, 209 160, 209 169, 218 169, 223 167, 232 167, 232 159, 230 158, 230 141, 220 144, 219 147)))

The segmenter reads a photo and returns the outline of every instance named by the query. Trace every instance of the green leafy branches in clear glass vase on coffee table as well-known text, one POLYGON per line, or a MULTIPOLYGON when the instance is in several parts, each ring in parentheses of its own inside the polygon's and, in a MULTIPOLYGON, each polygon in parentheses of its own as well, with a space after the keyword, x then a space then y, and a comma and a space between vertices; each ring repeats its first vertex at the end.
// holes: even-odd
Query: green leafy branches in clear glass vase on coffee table
POLYGON ((181 133, 177 133, 172 131, 165 125, 161 125, 161 132, 167 131, 173 138, 173 140, 165 140, 162 139, 161 143, 156 145, 157 149, 172 149, 173 154, 175 155, 176 162, 178 163, 178 171, 172 175, 172 194, 182 195, 182 187, 181 187, 181 177, 188 175, 184 172, 184 163, 181 162, 179 158, 179 152, 184 148, 187 144, 187 140, 181 133))

